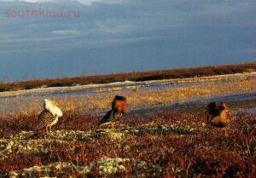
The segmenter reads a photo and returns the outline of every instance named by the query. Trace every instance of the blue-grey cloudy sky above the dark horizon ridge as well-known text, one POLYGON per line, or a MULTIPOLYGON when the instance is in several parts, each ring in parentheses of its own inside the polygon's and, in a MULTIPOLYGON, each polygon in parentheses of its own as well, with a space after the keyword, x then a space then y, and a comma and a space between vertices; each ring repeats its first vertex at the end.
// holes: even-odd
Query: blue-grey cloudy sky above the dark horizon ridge
POLYGON ((0 81, 256 61, 255 0, 0 0, 0 81))

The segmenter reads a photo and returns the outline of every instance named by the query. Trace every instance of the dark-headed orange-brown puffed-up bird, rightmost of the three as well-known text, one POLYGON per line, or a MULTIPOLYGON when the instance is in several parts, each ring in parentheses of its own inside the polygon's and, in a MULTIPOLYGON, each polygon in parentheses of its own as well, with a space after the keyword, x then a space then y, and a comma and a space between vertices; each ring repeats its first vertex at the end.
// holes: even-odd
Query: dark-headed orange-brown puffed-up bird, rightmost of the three
POLYGON ((211 115, 208 121, 214 127, 225 127, 230 123, 230 110, 224 102, 211 102, 207 105, 207 112, 211 115))

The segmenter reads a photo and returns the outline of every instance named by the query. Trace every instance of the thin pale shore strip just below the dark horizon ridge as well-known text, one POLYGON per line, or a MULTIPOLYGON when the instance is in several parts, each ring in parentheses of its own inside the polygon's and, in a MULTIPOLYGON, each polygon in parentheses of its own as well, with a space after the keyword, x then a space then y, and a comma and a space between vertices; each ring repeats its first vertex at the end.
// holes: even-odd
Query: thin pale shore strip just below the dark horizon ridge
MULTIPOLYGON (((256 72, 248 73, 235 73, 235 74, 224 74, 215 75, 210 77, 201 78, 173 78, 173 79, 163 79, 163 80, 150 80, 143 82, 136 81, 125 81, 125 82, 115 82, 115 83, 98 83, 98 84, 85 84, 79 86, 64 86, 64 87, 49 87, 49 88, 38 88, 38 89, 22 89, 18 91, 4 91, 0 92, 0 98, 9 98, 17 96, 27 96, 30 95, 47 95, 56 93, 73 93, 81 92, 85 90, 92 90, 88 93, 97 92, 111 92, 111 91, 123 91, 125 89, 139 89, 140 87, 151 87, 151 86, 161 86, 161 85, 176 85, 185 83, 204 83, 213 81, 224 81, 236 78, 253 78, 256 77, 256 72)), ((86 93, 86 92, 85 92, 86 93)))

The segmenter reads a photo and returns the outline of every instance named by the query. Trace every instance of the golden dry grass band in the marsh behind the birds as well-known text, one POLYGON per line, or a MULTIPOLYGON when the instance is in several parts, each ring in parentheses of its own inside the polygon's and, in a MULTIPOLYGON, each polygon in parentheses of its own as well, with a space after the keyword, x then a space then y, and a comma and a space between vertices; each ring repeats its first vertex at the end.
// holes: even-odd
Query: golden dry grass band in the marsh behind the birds
MULTIPOLYGON (((256 92, 256 78, 233 78, 224 81, 205 81, 192 83, 183 87, 171 89, 136 89, 119 92, 103 92, 88 95, 59 95, 51 99, 57 100, 65 112, 88 112, 91 110, 106 111, 110 107, 114 95, 125 95, 128 106, 155 106, 173 102, 182 102, 196 99, 207 99, 214 95, 232 95, 256 92)), ((8 118, 17 118, 20 115, 30 116, 39 113, 43 107, 43 97, 20 97, 2 100, 0 112, 8 118), (12 107, 13 106, 13 107, 12 107)))

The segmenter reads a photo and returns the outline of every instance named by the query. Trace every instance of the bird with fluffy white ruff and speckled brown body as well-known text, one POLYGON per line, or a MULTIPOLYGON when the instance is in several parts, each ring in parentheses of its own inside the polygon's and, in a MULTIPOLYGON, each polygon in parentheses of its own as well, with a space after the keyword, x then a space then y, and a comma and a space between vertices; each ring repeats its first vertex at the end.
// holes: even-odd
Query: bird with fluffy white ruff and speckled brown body
POLYGON ((61 109, 56 106, 54 100, 44 99, 44 110, 38 116, 36 129, 46 128, 46 133, 51 133, 51 127, 63 116, 61 109))

